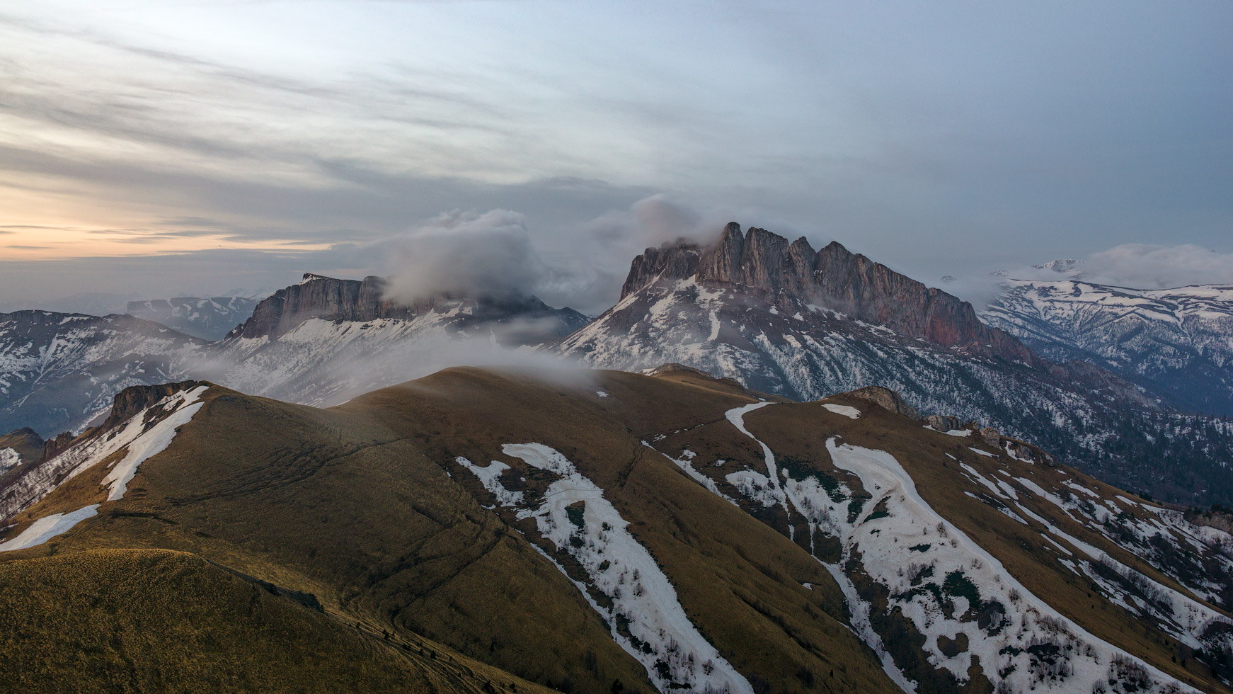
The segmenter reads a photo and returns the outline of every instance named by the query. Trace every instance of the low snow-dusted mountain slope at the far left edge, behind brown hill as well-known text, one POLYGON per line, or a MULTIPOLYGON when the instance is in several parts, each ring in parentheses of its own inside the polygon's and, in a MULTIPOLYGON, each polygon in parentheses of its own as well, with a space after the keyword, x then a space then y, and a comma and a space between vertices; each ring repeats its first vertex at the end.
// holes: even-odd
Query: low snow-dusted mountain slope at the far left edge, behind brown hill
POLYGON ((129 386, 179 380, 203 340, 132 316, 0 314, 0 431, 49 436, 106 413, 129 386))

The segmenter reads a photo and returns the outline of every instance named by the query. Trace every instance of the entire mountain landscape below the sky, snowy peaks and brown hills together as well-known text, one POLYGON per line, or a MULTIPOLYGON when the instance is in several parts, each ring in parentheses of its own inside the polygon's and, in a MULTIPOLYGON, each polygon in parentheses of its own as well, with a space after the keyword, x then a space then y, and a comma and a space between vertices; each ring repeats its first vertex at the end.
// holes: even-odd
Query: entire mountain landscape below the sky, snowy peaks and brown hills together
POLYGON ((1042 269, 0 314, 0 690, 1233 694, 1228 290, 1042 269))

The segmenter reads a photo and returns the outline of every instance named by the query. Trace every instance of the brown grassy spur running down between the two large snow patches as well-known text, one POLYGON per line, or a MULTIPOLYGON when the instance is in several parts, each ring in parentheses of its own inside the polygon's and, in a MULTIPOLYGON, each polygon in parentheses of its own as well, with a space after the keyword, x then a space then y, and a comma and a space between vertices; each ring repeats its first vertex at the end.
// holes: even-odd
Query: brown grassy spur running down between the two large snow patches
MULTIPOLYGON (((597 377, 593 387, 605 398, 576 385, 449 370, 340 409, 396 413, 390 425, 433 460, 499 460, 531 476, 522 461, 501 452, 501 444, 534 441, 561 451, 605 489, 677 588, 694 625, 751 682, 771 692, 895 690, 843 625, 838 587, 813 557, 641 444, 652 431, 699 422, 732 429, 724 413, 751 402, 750 394, 692 383, 688 375, 597 377)), ((472 494, 488 498, 469 471, 450 468, 472 494)), ((514 523, 512 512, 502 518, 514 523)))

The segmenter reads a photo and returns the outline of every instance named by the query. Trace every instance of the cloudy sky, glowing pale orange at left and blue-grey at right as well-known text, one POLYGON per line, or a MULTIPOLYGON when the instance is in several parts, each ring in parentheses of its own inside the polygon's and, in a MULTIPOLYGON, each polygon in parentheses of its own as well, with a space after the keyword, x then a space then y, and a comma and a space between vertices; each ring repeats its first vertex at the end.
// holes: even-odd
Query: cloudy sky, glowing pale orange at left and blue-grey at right
POLYGON ((1223 0, 0 0, 0 300, 391 272, 490 224, 481 261, 597 312, 641 245, 727 219, 930 284, 1092 254, 1233 281, 1231 27, 1223 0))

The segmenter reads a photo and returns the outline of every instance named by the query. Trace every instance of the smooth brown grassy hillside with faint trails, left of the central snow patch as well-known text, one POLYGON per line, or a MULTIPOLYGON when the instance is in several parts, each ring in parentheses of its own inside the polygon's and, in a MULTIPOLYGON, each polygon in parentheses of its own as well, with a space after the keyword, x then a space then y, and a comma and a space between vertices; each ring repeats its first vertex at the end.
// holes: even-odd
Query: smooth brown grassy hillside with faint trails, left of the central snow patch
MULTIPOLYGON (((651 690, 560 572, 377 418, 223 388, 206 401, 125 499, 23 553, 200 553, 313 593, 377 632, 440 640, 530 680, 651 690)), ((63 503, 58 494, 46 504, 63 503)))

